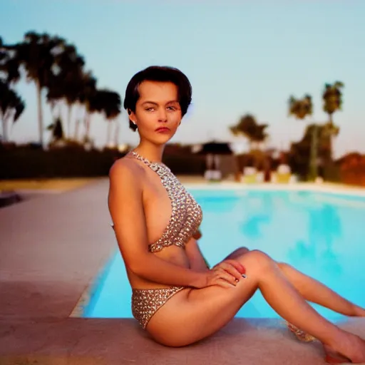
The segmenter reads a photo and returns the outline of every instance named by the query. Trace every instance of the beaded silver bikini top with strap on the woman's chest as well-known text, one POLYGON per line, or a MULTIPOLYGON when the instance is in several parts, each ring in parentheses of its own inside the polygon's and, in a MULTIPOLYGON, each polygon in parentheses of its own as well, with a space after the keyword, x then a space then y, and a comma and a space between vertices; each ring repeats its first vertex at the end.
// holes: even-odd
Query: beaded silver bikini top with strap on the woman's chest
POLYGON ((195 202, 178 178, 163 163, 152 163, 141 155, 132 151, 129 155, 137 158, 160 176, 163 186, 171 200, 171 217, 168 226, 163 231, 159 240, 148 245, 150 252, 158 252, 164 247, 176 245, 185 247, 192 235, 195 234, 202 222, 202 209, 195 202))

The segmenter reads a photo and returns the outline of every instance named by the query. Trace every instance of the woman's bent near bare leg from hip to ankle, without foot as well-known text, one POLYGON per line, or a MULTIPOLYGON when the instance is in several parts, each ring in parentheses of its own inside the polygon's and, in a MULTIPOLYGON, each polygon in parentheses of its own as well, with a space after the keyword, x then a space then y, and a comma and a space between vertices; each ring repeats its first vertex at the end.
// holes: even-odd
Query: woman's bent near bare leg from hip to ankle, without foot
POLYGON ((269 305, 288 322, 351 361, 365 361, 365 341, 319 315, 274 260, 259 251, 248 252, 238 260, 246 268, 246 279, 241 279, 232 289, 218 286, 191 289, 185 302, 179 302, 180 296, 175 294, 175 300, 170 299, 150 321, 149 330, 155 339, 170 346, 184 346, 210 336, 227 324, 256 289, 260 289, 269 305))

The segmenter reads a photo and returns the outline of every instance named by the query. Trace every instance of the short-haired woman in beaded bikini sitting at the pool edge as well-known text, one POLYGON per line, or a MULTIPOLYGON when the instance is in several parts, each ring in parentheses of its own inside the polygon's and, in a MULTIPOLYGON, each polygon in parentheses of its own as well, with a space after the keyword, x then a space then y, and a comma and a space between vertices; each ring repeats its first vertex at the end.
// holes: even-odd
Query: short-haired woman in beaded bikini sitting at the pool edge
POLYGON ((327 361, 365 361, 365 341, 306 301, 348 316, 365 317, 365 310, 320 282, 258 250, 238 250, 207 268, 193 238, 200 206, 161 163, 191 93, 183 73, 158 66, 136 73, 125 92, 140 143, 110 169, 108 205, 133 288, 133 316, 160 344, 185 346, 225 326, 259 289, 281 317, 322 342, 327 361))

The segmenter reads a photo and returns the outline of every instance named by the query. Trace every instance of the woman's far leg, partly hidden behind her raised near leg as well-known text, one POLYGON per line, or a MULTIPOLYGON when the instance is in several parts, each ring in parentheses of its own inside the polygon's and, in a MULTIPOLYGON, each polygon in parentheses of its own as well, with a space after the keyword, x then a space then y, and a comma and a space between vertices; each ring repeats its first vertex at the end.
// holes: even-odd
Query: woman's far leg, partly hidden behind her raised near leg
MULTIPOLYGON (((238 257, 247 254, 250 250, 247 247, 240 247, 230 255, 227 259, 237 259, 238 257)), ((365 309, 357 306, 349 300, 341 297, 341 295, 329 289, 316 279, 309 277, 297 269, 294 269, 289 264, 277 262, 283 274, 289 279, 289 282, 294 285, 295 289, 309 302, 313 302, 322 307, 329 308, 334 312, 344 314, 349 317, 365 317, 365 309)))

